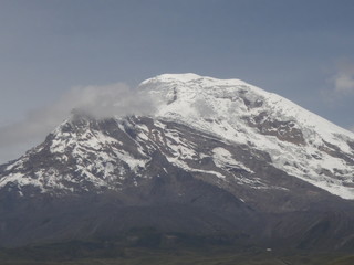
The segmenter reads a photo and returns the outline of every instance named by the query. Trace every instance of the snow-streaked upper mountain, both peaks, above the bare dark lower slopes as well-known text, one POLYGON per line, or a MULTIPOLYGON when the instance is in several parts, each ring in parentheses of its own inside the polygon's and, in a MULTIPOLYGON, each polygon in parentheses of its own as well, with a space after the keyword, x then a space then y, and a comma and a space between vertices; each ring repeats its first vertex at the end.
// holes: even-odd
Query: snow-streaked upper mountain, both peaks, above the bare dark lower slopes
POLYGON ((296 104, 239 80, 196 74, 159 75, 139 88, 156 105, 153 116, 74 113, 0 167, 0 190, 119 191, 183 170, 243 199, 248 189, 290 192, 294 177, 354 199, 354 135, 296 104), (283 174, 288 182, 274 179, 283 174))

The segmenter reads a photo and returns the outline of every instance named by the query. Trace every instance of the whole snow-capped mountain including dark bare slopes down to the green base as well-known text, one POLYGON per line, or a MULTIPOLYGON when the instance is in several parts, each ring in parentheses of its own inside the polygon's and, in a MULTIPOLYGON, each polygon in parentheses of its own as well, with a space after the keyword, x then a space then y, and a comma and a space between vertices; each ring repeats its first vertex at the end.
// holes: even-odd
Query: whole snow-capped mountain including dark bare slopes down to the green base
POLYGON ((144 81, 155 113, 79 110, 0 166, 0 245, 153 227, 241 245, 354 246, 354 135, 239 80, 144 81))

